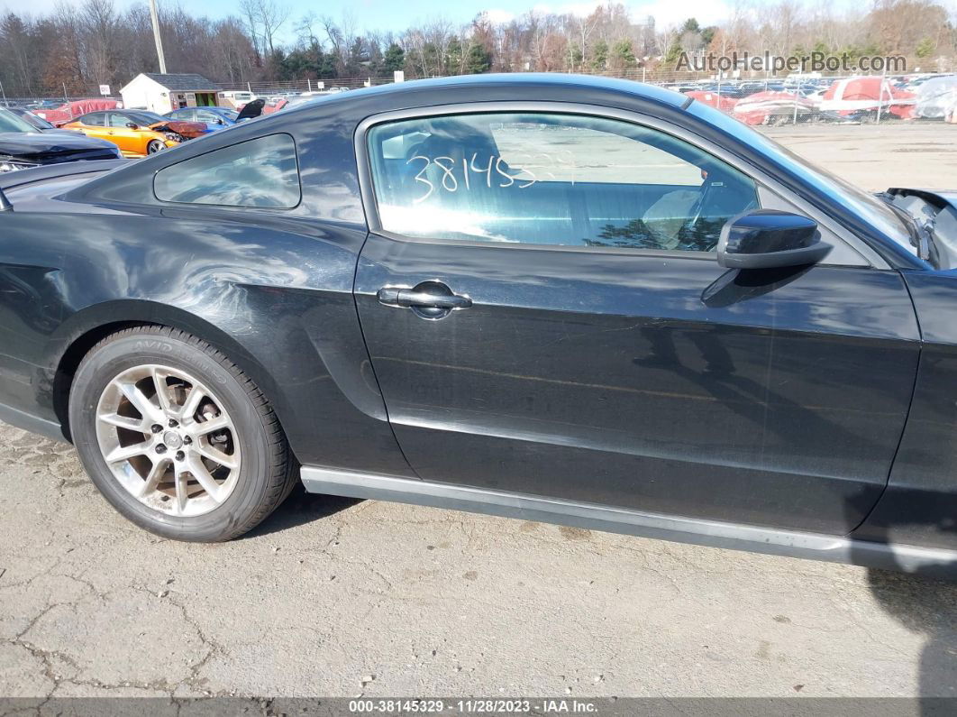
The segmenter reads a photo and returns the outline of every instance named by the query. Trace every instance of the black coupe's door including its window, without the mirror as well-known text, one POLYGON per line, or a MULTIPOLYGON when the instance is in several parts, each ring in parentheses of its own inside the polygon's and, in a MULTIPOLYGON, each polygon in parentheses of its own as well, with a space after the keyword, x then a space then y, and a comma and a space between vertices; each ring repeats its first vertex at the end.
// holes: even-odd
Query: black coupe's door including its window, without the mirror
POLYGON ((365 137, 356 301, 422 479, 827 533, 875 504, 918 356, 896 272, 830 234, 824 265, 723 269, 723 223, 785 200, 648 126, 476 112, 365 137))

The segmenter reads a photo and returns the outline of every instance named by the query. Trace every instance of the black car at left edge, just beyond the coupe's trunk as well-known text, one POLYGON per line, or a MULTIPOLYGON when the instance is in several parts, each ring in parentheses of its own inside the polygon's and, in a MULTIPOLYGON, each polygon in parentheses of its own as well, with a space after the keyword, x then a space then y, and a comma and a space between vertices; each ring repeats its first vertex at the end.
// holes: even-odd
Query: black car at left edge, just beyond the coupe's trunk
POLYGON ((0 172, 121 157, 115 145, 60 129, 43 131, 0 108, 0 172))

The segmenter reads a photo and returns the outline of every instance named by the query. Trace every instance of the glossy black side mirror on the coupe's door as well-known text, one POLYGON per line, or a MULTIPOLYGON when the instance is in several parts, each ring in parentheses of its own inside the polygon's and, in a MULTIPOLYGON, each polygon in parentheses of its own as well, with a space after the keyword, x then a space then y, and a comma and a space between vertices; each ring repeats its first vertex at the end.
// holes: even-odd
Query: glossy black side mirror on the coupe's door
POLYGON ((762 209, 728 219, 718 240, 718 263, 729 269, 774 269, 816 264, 831 251, 817 222, 762 209))

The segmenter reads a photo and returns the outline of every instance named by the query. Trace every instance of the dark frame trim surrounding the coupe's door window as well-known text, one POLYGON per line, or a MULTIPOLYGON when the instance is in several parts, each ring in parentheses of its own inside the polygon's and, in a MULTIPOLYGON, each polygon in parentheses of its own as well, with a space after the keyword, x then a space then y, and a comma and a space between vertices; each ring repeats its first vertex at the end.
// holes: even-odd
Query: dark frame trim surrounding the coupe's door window
POLYGON ((523 242, 504 242, 504 241, 470 241, 468 239, 445 239, 434 236, 411 236, 396 232, 390 232, 382 226, 382 220, 379 214, 378 199, 375 195, 375 188, 372 182, 372 164, 371 156, 368 150, 368 132, 378 125, 403 120, 417 120, 430 117, 444 117, 448 115, 462 114, 499 114, 502 112, 539 112, 544 114, 561 114, 579 117, 591 117, 606 120, 617 120, 626 123, 636 124, 640 127, 654 129, 659 132, 671 135, 681 142, 704 151, 718 158, 725 164, 745 174, 757 185, 758 194, 762 191, 770 191, 776 194, 781 200, 789 203, 796 211, 805 213, 816 221, 820 226, 827 229, 830 234, 843 241, 847 247, 854 251, 863 261, 863 264, 828 264, 827 258, 822 265, 841 267, 848 266, 852 268, 874 268, 890 269, 887 262, 879 256, 865 241, 857 235, 849 232, 845 227, 838 224, 835 219, 826 213, 822 213, 813 207, 793 191, 781 185, 774 177, 760 168, 756 168, 746 160, 725 150, 723 147, 715 145, 690 130, 680 127, 674 123, 665 122, 652 115, 643 112, 618 109, 617 107, 587 104, 582 102, 563 102, 563 101, 472 101, 457 102, 454 104, 438 104, 432 106, 412 107, 400 110, 390 110, 368 116, 360 122, 353 134, 353 148, 356 155, 356 163, 359 178, 359 191, 362 198, 363 212, 366 215, 366 224, 368 231, 372 234, 385 236, 386 238, 413 243, 438 244, 444 246, 469 246, 469 247, 488 247, 494 249, 523 249, 526 251, 552 251, 552 252, 572 252, 587 254, 621 254, 626 256, 648 256, 660 258, 689 258, 699 260, 717 261, 716 252, 692 252, 675 251, 669 249, 636 249, 628 247, 594 247, 579 246, 570 244, 532 244, 523 242))

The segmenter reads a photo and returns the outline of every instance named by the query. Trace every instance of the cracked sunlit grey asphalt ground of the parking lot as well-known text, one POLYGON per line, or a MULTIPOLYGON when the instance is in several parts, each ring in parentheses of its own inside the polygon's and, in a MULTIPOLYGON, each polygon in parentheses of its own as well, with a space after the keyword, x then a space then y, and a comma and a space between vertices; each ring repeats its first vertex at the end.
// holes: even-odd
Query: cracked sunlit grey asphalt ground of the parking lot
MULTIPOLYGON (((769 133, 957 186, 957 126, 769 133)), ((0 696, 208 694, 957 696, 957 584, 302 492, 179 544, 0 425, 0 696)))

